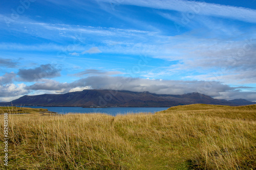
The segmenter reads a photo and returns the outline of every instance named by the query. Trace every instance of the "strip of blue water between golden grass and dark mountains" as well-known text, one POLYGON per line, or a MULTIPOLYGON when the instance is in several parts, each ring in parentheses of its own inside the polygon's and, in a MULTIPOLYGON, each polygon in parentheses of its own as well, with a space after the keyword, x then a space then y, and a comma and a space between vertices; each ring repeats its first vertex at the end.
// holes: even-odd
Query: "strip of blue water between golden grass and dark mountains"
POLYGON ((48 111, 57 113, 106 113, 110 115, 162 111, 168 109, 167 107, 112 107, 112 108, 82 108, 82 107, 43 107, 43 106, 25 106, 30 108, 48 109, 48 111))

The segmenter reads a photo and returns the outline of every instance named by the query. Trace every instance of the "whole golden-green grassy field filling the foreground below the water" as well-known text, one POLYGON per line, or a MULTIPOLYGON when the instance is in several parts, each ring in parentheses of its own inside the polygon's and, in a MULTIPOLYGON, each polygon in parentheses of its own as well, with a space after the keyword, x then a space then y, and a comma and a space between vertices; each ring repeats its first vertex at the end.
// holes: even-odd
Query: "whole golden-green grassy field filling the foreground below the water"
MULTIPOLYGON (((8 121, 6 169, 256 169, 256 105, 115 117, 9 114, 8 121)), ((2 130, 4 148, 3 138, 2 130)))

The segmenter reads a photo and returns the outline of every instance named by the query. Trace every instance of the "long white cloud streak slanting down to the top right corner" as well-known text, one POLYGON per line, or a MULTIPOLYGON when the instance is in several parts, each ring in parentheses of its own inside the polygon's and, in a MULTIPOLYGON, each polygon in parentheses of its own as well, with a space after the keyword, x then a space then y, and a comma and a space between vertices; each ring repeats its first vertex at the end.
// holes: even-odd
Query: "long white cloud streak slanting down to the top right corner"
MULTIPOLYGON (((109 3, 109 1, 107 0, 97 1, 109 3)), ((242 7, 232 7, 219 4, 183 0, 123 0, 118 1, 117 4, 134 5, 154 9, 174 10, 188 13, 188 15, 189 13, 190 15, 194 13, 200 15, 218 16, 224 18, 237 19, 245 22, 256 23, 256 10, 242 7)))

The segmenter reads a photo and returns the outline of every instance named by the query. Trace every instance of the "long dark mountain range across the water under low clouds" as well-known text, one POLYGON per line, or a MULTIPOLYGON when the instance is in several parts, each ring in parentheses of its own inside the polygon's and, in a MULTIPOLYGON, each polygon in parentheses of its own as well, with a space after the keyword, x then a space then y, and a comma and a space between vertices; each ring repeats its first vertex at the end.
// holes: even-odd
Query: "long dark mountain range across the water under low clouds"
POLYGON ((70 106, 70 107, 172 107, 189 104, 242 106, 252 105, 243 99, 218 100, 197 92, 182 95, 154 94, 126 90, 83 90, 65 94, 24 95, 0 105, 70 106))

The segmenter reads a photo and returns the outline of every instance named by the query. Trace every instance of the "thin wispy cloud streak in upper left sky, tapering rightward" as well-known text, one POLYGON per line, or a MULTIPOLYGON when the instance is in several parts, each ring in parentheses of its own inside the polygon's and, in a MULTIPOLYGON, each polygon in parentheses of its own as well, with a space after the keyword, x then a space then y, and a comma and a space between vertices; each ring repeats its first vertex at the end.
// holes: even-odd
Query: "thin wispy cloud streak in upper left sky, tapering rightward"
MULTIPOLYGON (((33 37, 40 37, 49 39, 54 42, 62 43, 63 40, 73 40, 78 38, 80 41, 86 41, 85 36, 94 37, 97 41, 97 37, 123 37, 129 38, 130 36, 138 36, 139 34, 147 35, 151 32, 143 30, 133 29, 118 29, 118 28, 106 28, 106 27, 91 27, 91 26, 80 26, 80 25, 67 25, 59 23, 47 23, 38 22, 30 18, 21 17, 15 21, 15 25, 12 27, 4 27, 4 15, 0 14, 0 24, 2 23, 1 29, 12 30, 15 32, 23 33, 24 35, 30 35, 33 37), (80 37, 81 34, 83 37, 80 37)), ((152 33, 151 33, 152 34, 152 33)), ((106 38, 107 39, 107 38, 106 38)))

